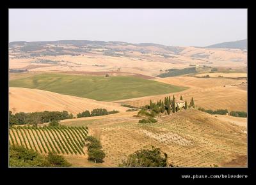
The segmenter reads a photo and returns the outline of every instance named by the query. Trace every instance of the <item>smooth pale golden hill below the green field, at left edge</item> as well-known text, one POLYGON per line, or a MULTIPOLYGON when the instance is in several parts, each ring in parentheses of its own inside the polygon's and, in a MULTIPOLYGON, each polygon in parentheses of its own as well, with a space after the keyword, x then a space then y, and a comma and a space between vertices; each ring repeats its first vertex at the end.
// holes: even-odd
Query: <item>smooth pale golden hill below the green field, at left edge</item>
POLYGON ((76 96, 63 95, 42 91, 38 89, 27 89, 21 87, 9 87, 9 110, 16 112, 43 112, 67 110, 76 115, 84 110, 92 111, 94 108, 106 108, 108 111, 118 110, 125 112, 126 107, 118 103, 96 101, 76 96))

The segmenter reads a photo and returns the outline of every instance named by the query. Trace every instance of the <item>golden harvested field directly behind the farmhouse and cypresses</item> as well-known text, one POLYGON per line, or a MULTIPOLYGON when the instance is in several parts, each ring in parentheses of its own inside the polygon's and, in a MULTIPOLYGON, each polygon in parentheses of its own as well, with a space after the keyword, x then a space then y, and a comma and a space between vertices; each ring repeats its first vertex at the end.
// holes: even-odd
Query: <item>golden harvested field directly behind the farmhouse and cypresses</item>
POLYGON ((147 105, 150 100, 156 102, 160 99, 163 100, 165 96, 175 95, 177 99, 182 96, 188 102, 193 97, 198 107, 206 109, 216 110, 227 108, 228 111, 239 110, 247 112, 247 91, 238 87, 239 84, 246 82, 246 80, 194 77, 168 77, 157 78, 155 80, 167 84, 179 84, 189 87, 189 89, 179 93, 132 98, 115 102, 141 107, 147 105))

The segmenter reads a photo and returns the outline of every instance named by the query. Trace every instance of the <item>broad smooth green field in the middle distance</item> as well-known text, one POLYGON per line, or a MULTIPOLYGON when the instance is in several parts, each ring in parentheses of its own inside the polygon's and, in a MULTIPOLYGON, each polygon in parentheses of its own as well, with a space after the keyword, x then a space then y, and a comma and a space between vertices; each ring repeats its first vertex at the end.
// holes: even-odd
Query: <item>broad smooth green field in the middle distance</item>
POLYGON ((137 77, 104 77, 45 73, 11 80, 10 87, 41 89, 99 101, 115 101, 157 94, 176 93, 188 87, 137 77))

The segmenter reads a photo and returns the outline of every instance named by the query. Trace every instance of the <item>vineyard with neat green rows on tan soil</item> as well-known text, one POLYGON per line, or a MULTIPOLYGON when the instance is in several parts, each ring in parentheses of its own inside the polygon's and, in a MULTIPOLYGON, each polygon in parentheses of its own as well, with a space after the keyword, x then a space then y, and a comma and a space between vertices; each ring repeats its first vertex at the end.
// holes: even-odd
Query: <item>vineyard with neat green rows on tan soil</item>
POLYGON ((56 152, 56 154, 84 155, 85 139, 88 128, 72 126, 18 126, 11 127, 9 142, 11 145, 21 145, 41 154, 56 152))

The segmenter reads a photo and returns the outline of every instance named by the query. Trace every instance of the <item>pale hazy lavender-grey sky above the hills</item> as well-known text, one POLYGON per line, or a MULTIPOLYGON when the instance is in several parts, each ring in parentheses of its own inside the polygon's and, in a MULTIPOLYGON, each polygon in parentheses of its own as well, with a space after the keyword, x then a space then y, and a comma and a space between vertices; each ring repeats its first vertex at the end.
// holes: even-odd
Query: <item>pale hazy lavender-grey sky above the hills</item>
POLYGON ((9 10, 9 41, 102 40, 204 47, 245 38, 246 9, 9 10))

